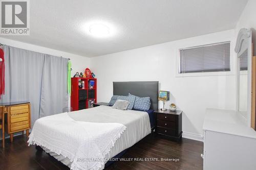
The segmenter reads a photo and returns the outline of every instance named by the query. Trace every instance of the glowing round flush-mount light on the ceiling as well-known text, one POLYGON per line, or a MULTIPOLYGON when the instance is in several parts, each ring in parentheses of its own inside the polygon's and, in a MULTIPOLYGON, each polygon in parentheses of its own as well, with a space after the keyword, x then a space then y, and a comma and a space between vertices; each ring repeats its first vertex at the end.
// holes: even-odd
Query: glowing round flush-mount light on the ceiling
POLYGON ((95 23, 90 26, 89 30, 90 34, 96 37, 107 37, 110 35, 110 29, 109 27, 101 24, 101 23, 95 23))

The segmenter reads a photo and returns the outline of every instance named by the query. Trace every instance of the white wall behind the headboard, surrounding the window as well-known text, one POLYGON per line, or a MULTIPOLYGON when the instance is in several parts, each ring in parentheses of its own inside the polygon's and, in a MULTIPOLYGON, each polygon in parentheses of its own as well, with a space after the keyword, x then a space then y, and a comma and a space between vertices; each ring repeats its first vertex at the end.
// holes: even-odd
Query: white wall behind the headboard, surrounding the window
POLYGON ((159 81, 160 90, 170 91, 167 106, 175 103, 179 110, 184 111, 184 136, 202 135, 206 108, 236 109, 233 49, 234 30, 228 30, 92 58, 91 69, 98 78, 97 100, 110 101, 113 81, 159 81), (223 41, 231 41, 231 72, 177 76, 179 48, 223 41))

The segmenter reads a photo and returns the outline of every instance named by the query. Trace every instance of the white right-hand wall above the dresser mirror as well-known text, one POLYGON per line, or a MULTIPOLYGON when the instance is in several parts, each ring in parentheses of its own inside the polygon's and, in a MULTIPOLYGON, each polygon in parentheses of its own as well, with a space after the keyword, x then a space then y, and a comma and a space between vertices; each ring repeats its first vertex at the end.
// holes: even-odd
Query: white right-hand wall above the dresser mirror
POLYGON ((252 41, 254 48, 254 56, 256 56, 256 1, 249 0, 246 4, 243 13, 240 16, 240 19, 236 26, 236 34, 242 28, 252 30, 252 41))

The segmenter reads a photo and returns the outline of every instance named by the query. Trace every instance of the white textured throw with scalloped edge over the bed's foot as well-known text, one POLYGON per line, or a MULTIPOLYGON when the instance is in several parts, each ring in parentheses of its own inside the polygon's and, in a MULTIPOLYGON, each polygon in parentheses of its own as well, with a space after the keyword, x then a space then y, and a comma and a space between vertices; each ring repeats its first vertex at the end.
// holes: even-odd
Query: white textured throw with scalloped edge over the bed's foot
POLYGON ((75 121, 61 113, 37 119, 28 142, 68 157, 71 169, 98 170, 125 128, 119 123, 75 121))

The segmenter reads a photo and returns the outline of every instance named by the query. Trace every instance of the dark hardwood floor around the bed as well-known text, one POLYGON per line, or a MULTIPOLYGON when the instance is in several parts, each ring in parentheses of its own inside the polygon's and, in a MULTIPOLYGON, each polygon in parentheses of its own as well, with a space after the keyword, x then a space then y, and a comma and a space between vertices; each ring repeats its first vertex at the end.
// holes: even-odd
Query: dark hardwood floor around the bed
MULTIPOLYGON (((2 145, 1 145, 2 147, 2 145)), ((136 143, 123 158, 176 158, 179 161, 117 161, 105 168, 110 169, 203 169, 203 142, 185 139, 177 143, 148 135, 136 143)), ((6 148, 0 148, 0 169, 69 169, 45 152, 28 147, 26 135, 6 140, 6 148)))

